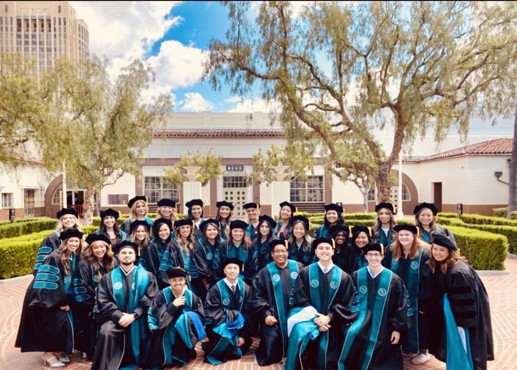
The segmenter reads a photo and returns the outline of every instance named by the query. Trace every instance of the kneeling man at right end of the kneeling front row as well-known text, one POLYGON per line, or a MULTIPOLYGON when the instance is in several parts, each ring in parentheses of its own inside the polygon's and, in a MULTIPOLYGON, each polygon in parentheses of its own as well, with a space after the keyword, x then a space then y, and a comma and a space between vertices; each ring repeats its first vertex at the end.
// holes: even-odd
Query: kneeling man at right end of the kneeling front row
POLYGON ((401 370, 400 333, 406 330, 407 292, 398 275, 384 268, 384 246, 363 247, 368 266, 352 273, 356 293, 339 359, 340 370, 401 370))

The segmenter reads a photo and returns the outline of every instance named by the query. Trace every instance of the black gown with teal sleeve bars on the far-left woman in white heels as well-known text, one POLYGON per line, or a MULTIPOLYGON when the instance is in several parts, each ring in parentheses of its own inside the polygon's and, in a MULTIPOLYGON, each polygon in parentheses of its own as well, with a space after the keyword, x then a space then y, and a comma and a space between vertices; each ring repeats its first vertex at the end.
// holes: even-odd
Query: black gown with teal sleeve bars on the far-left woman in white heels
POLYGON ((41 264, 23 300, 15 344, 22 352, 73 352, 72 311, 59 308, 68 305, 73 309, 73 297, 65 291, 73 280, 73 268, 64 274, 59 251, 53 251, 41 264))

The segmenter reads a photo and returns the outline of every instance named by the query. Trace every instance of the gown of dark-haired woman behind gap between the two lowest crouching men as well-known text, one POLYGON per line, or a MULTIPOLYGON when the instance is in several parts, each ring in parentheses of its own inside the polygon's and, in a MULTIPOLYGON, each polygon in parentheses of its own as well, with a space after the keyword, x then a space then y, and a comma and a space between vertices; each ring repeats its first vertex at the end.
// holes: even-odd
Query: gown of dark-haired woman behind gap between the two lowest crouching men
POLYGON ((203 302, 206 300, 208 289, 217 283, 215 275, 217 275, 216 271, 219 269, 220 252, 218 250, 219 243, 216 242, 212 245, 208 241, 204 241, 203 238, 198 239, 192 249, 192 261, 197 270, 197 278, 192 279, 192 286, 203 302), (204 282, 208 284, 208 289, 204 282))

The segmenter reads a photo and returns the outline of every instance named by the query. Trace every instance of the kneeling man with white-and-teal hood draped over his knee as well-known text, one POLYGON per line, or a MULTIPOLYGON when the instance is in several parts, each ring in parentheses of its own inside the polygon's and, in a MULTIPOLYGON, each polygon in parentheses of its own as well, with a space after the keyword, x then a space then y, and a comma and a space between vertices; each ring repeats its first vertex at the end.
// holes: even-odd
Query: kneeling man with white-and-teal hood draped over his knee
POLYGON ((312 245, 319 260, 300 271, 291 294, 286 370, 337 369, 344 335, 357 316, 352 279, 332 263, 336 242, 318 238, 312 245))

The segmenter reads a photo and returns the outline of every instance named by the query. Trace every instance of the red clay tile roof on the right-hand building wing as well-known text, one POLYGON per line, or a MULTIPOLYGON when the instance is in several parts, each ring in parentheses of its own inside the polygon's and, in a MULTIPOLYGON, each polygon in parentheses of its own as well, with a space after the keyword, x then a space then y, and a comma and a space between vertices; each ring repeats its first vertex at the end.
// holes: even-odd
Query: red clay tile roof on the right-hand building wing
POLYGON ((467 147, 444 151, 424 158, 405 158, 406 163, 422 163, 463 156, 511 155, 513 139, 501 137, 495 140, 472 144, 467 147))

